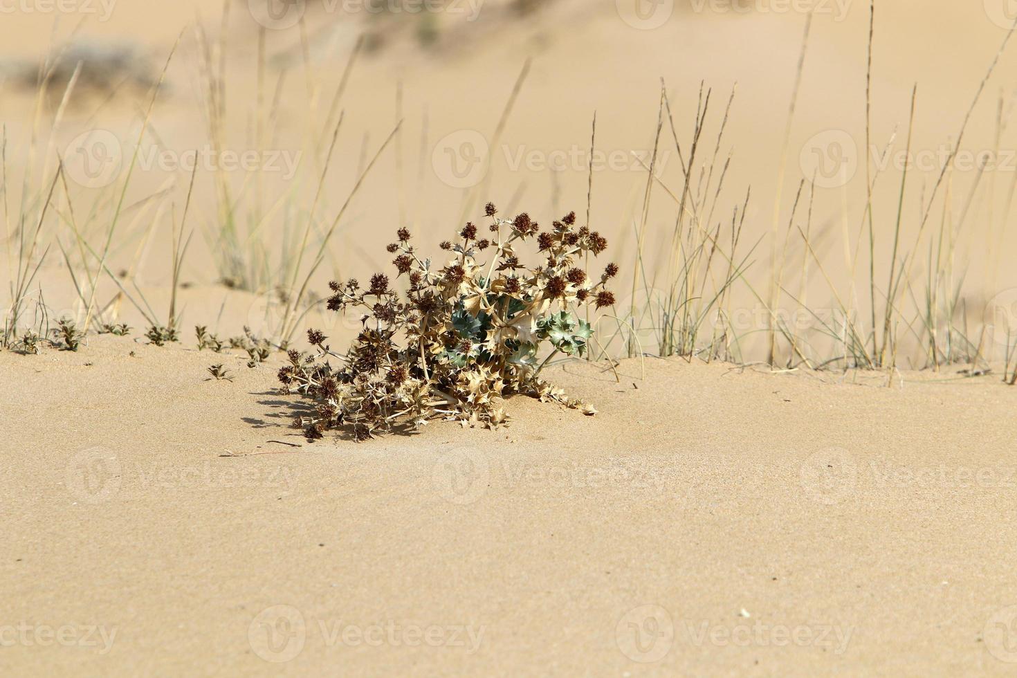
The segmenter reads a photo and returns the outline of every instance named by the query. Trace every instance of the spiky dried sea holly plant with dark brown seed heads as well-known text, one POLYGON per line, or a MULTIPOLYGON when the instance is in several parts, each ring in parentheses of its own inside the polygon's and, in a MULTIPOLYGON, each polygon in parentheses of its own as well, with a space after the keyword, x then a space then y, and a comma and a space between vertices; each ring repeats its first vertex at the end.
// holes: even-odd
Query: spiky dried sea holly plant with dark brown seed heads
POLYGON ((595 414, 540 375, 555 356, 587 356, 593 328, 580 313, 614 304, 606 286, 617 266, 596 279, 586 270, 607 241, 577 227, 575 213, 542 230, 526 213, 501 219, 493 204, 485 212, 487 233, 467 224, 441 243, 443 263, 424 258, 400 229, 387 249, 405 292, 381 272, 366 287, 330 284, 328 309, 359 313, 362 330, 341 354, 311 329, 315 355, 290 351, 279 372, 285 392, 315 402, 295 422, 309 437, 345 429, 365 440, 434 419, 493 428, 506 421, 513 393, 595 414), (533 264, 526 246, 536 250, 533 264))

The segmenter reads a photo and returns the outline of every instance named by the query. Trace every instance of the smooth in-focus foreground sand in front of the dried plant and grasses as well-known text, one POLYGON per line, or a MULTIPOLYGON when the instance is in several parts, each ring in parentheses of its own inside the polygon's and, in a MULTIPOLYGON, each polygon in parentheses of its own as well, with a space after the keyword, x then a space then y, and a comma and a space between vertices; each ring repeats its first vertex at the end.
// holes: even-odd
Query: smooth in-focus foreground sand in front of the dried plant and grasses
POLYGON ((129 338, 0 355, 4 675, 1017 662, 996 377, 573 364, 593 419, 516 398, 494 432, 309 444, 271 366, 222 360, 235 381, 129 338))

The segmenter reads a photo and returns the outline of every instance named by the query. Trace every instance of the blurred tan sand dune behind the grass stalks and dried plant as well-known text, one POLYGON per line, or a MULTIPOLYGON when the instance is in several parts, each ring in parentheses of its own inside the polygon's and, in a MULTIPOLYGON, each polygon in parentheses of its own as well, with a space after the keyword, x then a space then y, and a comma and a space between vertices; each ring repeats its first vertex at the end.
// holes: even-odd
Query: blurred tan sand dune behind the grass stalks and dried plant
MULTIPOLYGON (((622 278, 631 275, 643 226, 645 165, 657 145, 659 182, 646 210, 642 245, 646 272, 635 286, 636 297, 652 298, 673 276, 668 266, 673 268, 677 200, 671 194, 682 191, 682 166, 708 90, 695 165, 704 174, 714 168, 714 175, 706 187, 702 180, 692 187, 704 193, 704 205, 712 205, 712 221, 703 219, 703 227, 712 232, 723 224, 726 233, 752 191, 740 241, 745 284, 731 292, 742 311, 734 321, 745 337, 741 357, 765 353, 776 260, 786 271, 780 274, 786 290, 777 295, 781 306, 793 310, 807 300, 810 307, 833 312, 842 305, 862 316, 872 312, 864 220, 869 2, 66 0, 61 6, 66 11, 43 0, 18 0, 2 17, 0 117, 8 200, 38 208, 59 153, 81 232, 101 245, 110 207, 139 147, 110 262, 121 280, 147 290, 155 306, 153 300, 168 294, 172 225, 179 224, 190 180, 186 160, 198 151, 187 226, 196 235, 181 275, 190 288, 183 293, 185 325, 219 322, 235 331, 235 325, 255 322, 277 297, 285 298, 298 278, 290 267, 322 172, 327 168, 312 240, 328 231, 400 120, 327 243, 312 290, 321 291, 328 279, 386 268, 383 246, 399 226, 409 226, 422 247, 435 248, 462 222, 482 217, 487 200, 504 215, 527 210, 547 225, 572 209, 585 219, 591 164, 591 227, 609 237, 622 278), (145 125, 148 91, 178 40, 145 125), (39 73, 47 64, 52 72, 40 94, 39 73), (344 74, 348 80, 338 98, 344 74), (665 119, 655 143, 662 82, 674 131, 665 119), (684 157, 676 152, 674 136, 684 157), (806 229, 814 254, 800 236, 806 229)), ((932 266, 930 238, 941 233, 949 236, 953 261, 943 289, 963 280, 963 303, 948 310, 953 317, 945 323, 982 318, 989 300, 1017 285, 1006 258, 1017 244, 1009 228, 1017 135, 1006 127, 1017 91, 1017 48, 1003 54, 973 109, 962 147, 974 160, 962 165, 958 156, 919 238, 941 167, 1007 36, 1013 19, 1007 10, 1003 0, 877 3, 871 145, 889 145, 894 153, 905 149, 917 85, 910 146, 918 161, 901 202, 903 163, 893 156, 889 162, 870 158, 874 168, 886 165, 873 193, 873 268, 880 271, 877 286, 884 296, 877 306, 885 303, 882 279, 891 266, 899 204, 894 268, 911 257, 905 275, 915 285, 901 291, 900 303, 923 304, 917 285, 932 266), (996 162, 978 161, 984 152, 996 162)), ((67 202, 58 198, 58 204, 67 202)), ((58 212, 45 233, 72 250, 66 226, 66 213, 58 212)), ((43 290, 52 286, 54 298, 66 299, 63 306, 71 310, 75 297, 66 269, 73 268, 75 256, 62 257, 54 248, 36 281, 43 290)), ((303 262, 305 269, 309 263, 303 262)), ((117 292, 109 280, 101 285, 100 296, 117 292)), ((634 286, 630 279, 619 287, 634 286)), ((632 305, 632 293, 620 290, 619 304, 632 305)), ((134 313, 123 300, 118 306, 124 317, 134 313)), ((903 311, 902 318, 897 331, 914 335, 908 355, 920 365, 918 332, 909 331, 903 311)), ((355 324, 333 329, 352 331, 355 324)), ((652 333, 646 341, 653 341, 652 333)))

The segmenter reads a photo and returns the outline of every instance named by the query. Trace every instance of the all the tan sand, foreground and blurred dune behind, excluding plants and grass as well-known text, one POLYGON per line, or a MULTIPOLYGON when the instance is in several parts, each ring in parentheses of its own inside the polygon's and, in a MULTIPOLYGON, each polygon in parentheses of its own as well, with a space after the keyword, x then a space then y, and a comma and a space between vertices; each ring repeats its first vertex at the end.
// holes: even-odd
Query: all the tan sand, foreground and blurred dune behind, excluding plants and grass
MULTIPOLYGON (((263 190, 246 172, 228 175, 241 212, 255 201, 254 186, 264 204, 292 195, 292 207, 265 229, 278 265, 286 229, 292 239, 305 223, 325 109, 346 59, 357 36, 379 24, 312 3, 306 36, 298 27, 267 32, 266 88, 283 84, 264 148, 253 142, 257 33, 246 0, 157 4, 119 0, 99 20, 85 9, 106 3, 80 0, 57 15, 44 0, 19 0, 20 11, 0 16, 10 204, 19 203, 22 180, 29 193, 47 185, 53 153, 80 161, 75 140, 108 133, 113 141, 102 149, 113 152, 98 160, 113 163, 113 183, 97 186, 68 166, 67 192, 98 247, 147 105, 137 91, 82 96, 54 130, 59 102, 45 100, 35 129, 35 99, 10 79, 11 64, 32 63, 76 32, 84 44, 134 47, 138 63, 146 57, 158 71, 187 26, 141 143, 172 160, 208 147, 198 25, 229 45, 227 149, 299 160, 295 176, 259 175, 263 190)), ((387 42, 365 52, 350 77, 319 227, 399 118, 403 132, 353 200, 311 288, 386 268, 383 245, 404 224, 433 251, 483 181, 487 194, 474 197, 505 212, 527 209, 545 224, 572 208, 584 212, 594 111, 598 148, 645 155, 661 77, 682 138, 702 81, 715 87, 716 118, 738 84, 720 150, 721 159, 734 156, 717 214, 728 219, 752 185, 744 242, 764 240, 746 279, 765 286, 804 14, 750 4, 756 11, 676 2, 661 25, 641 29, 617 9, 620 0, 556 0, 525 18, 491 0, 476 23, 442 16, 440 39, 426 50, 413 24, 385 24, 379 35, 387 42), (527 59, 529 77, 495 139, 527 59), (485 144, 493 158, 486 174, 474 162, 485 144), (562 156, 563 169, 548 167, 562 156), (454 168, 469 170, 469 180, 450 174, 454 168)), ((869 3, 818 4, 826 10, 814 15, 778 221, 783 229, 789 193, 814 176, 817 151, 853 168, 846 185, 817 191, 814 233, 838 294, 864 297, 864 256, 853 252, 865 194, 869 3)), ((1006 3, 877 4, 874 143, 896 130, 901 149, 918 82, 912 150, 936 153, 956 135, 1003 39, 1006 3)), ((1015 59, 1008 52, 1001 61, 965 136, 969 149, 998 148, 1011 161, 1012 126, 997 140, 995 120, 1000 98, 1013 110, 1015 59)), ((704 132, 711 151, 716 118, 704 132)), ((194 324, 226 338, 245 324, 264 334, 280 321, 271 286, 240 292, 218 284, 213 180, 222 172, 202 165, 196 181, 180 293, 183 346, 89 336, 76 354, 0 353, 0 674, 958 675, 1017 667, 1017 390, 998 373, 907 372, 888 388, 881 375, 652 359, 623 362, 616 381, 602 367, 571 364, 552 377, 600 410, 593 419, 516 398, 512 426, 493 432, 433 424, 369 444, 308 443, 287 426, 301 403, 277 394, 275 363, 252 370, 246 357, 193 349, 194 324), (214 362, 234 381, 207 380, 214 362)), ((932 231, 914 245, 915 212, 935 174, 910 175, 906 251, 928 247, 932 231)), ((663 185, 675 188, 680 176, 676 158, 662 163, 663 185)), ((893 167, 882 177, 874 202, 885 265, 901 177, 893 167)), ((1002 258, 1017 238, 1002 219, 1014 177, 1009 162, 999 171, 958 170, 949 182, 956 274, 967 270, 963 296, 974 317, 986 298, 1008 288, 1007 300, 1017 294, 1002 258)), ((137 169, 110 254, 160 318, 170 297, 171 218, 188 179, 173 162, 137 169)), ((622 265, 622 306, 645 181, 633 163, 594 173, 592 225, 611 238, 610 256, 622 265)), ((53 318, 81 310, 56 246, 71 242, 63 193, 62 220, 51 214, 44 229, 51 250, 32 292, 34 300, 44 295, 53 318)), ((664 275, 651 264, 666 260, 675 206, 656 190, 651 207, 648 267, 664 275)), ((938 230, 938 209, 932 221, 938 230)), ((14 242, 0 240, 5 276, 13 274, 14 242)), ((801 257, 792 243, 792 292, 801 257)), ((70 259, 77 262, 73 249, 70 259)), ((920 283, 918 259, 912 272, 920 283)), ((818 268, 802 289, 822 312, 834 308, 834 293, 818 268)), ((99 298, 105 305, 115 292, 104 281, 99 298)), ((921 292, 919 285, 917 298, 921 292)), ((737 294, 737 329, 758 334, 766 316, 744 289, 737 294)), ((143 331, 128 304, 118 313, 135 335, 143 331)), ((333 314, 312 313, 308 322, 337 345, 356 328, 333 314)), ((900 364, 910 363, 902 356, 900 364)))

